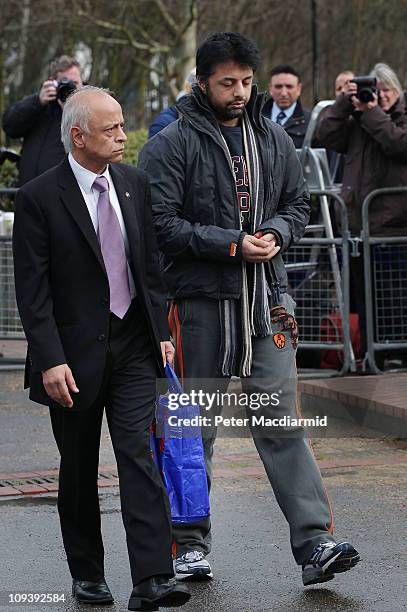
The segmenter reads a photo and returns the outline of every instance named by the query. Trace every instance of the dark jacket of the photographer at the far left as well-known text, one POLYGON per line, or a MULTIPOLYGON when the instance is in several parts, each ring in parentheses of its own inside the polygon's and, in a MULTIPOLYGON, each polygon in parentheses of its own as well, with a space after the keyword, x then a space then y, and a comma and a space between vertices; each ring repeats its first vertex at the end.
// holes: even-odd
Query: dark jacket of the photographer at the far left
POLYGON ((23 138, 19 185, 56 166, 65 156, 61 142, 62 110, 57 102, 45 106, 38 94, 10 106, 3 129, 10 138, 23 138))

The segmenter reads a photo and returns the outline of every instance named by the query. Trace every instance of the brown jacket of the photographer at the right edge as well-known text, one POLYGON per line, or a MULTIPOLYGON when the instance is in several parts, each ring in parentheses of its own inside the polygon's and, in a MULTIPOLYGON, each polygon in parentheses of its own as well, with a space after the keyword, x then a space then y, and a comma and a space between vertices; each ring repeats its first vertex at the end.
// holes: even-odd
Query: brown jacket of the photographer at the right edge
MULTIPOLYGON (((322 146, 346 154, 341 195, 351 232, 359 234, 367 194, 382 187, 407 186, 407 110, 404 96, 390 113, 379 106, 363 113, 353 110, 342 95, 324 112, 316 138, 322 146)), ((369 210, 372 234, 407 234, 407 192, 374 198, 369 210)))

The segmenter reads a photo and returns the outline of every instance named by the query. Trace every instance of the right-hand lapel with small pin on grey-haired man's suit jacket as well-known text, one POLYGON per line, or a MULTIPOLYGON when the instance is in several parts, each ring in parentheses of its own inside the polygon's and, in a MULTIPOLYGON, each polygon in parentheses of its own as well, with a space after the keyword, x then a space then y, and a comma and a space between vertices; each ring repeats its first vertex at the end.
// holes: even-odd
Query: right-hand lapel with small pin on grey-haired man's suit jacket
POLYGON ((131 255, 131 263, 136 264, 139 261, 139 245, 140 232, 136 214, 136 193, 133 183, 127 179, 125 173, 120 166, 109 166, 110 176, 114 183, 117 199, 119 200, 120 208, 127 231, 129 241, 129 249, 131 255))

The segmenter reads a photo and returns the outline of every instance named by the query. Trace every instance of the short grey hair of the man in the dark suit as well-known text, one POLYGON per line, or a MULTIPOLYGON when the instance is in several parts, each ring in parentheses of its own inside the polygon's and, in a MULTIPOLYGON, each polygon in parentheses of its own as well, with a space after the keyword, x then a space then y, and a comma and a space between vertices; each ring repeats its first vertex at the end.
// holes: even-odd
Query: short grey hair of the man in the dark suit
POLYGON ((109 91, 109 89, 85 85, 84 87, 79 87, 79 89, 76 89, 67 98, 62 111, 61 121, 61 140, 66 153, 70 153, 70 151, 72 151, 71 129, 73 127, 79 127, 84 132, 89 131, 89 105, 86 102, 86 96, 81 95, 82 92, 86 91, 103 92, 107 93, 108 95, 112 95, 112 92, 109 91))

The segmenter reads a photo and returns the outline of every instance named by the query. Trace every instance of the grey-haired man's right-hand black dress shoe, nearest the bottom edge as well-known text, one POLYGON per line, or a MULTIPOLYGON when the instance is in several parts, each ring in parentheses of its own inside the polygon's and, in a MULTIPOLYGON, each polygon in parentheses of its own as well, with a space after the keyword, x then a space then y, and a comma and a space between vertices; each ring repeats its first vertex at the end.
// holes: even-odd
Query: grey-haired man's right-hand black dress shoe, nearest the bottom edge
POLYGON ((188 588, 175 578, 152 576, 137 584, 129 601, 129 610, 158 610, 183 606, 191 597, 188 588))

